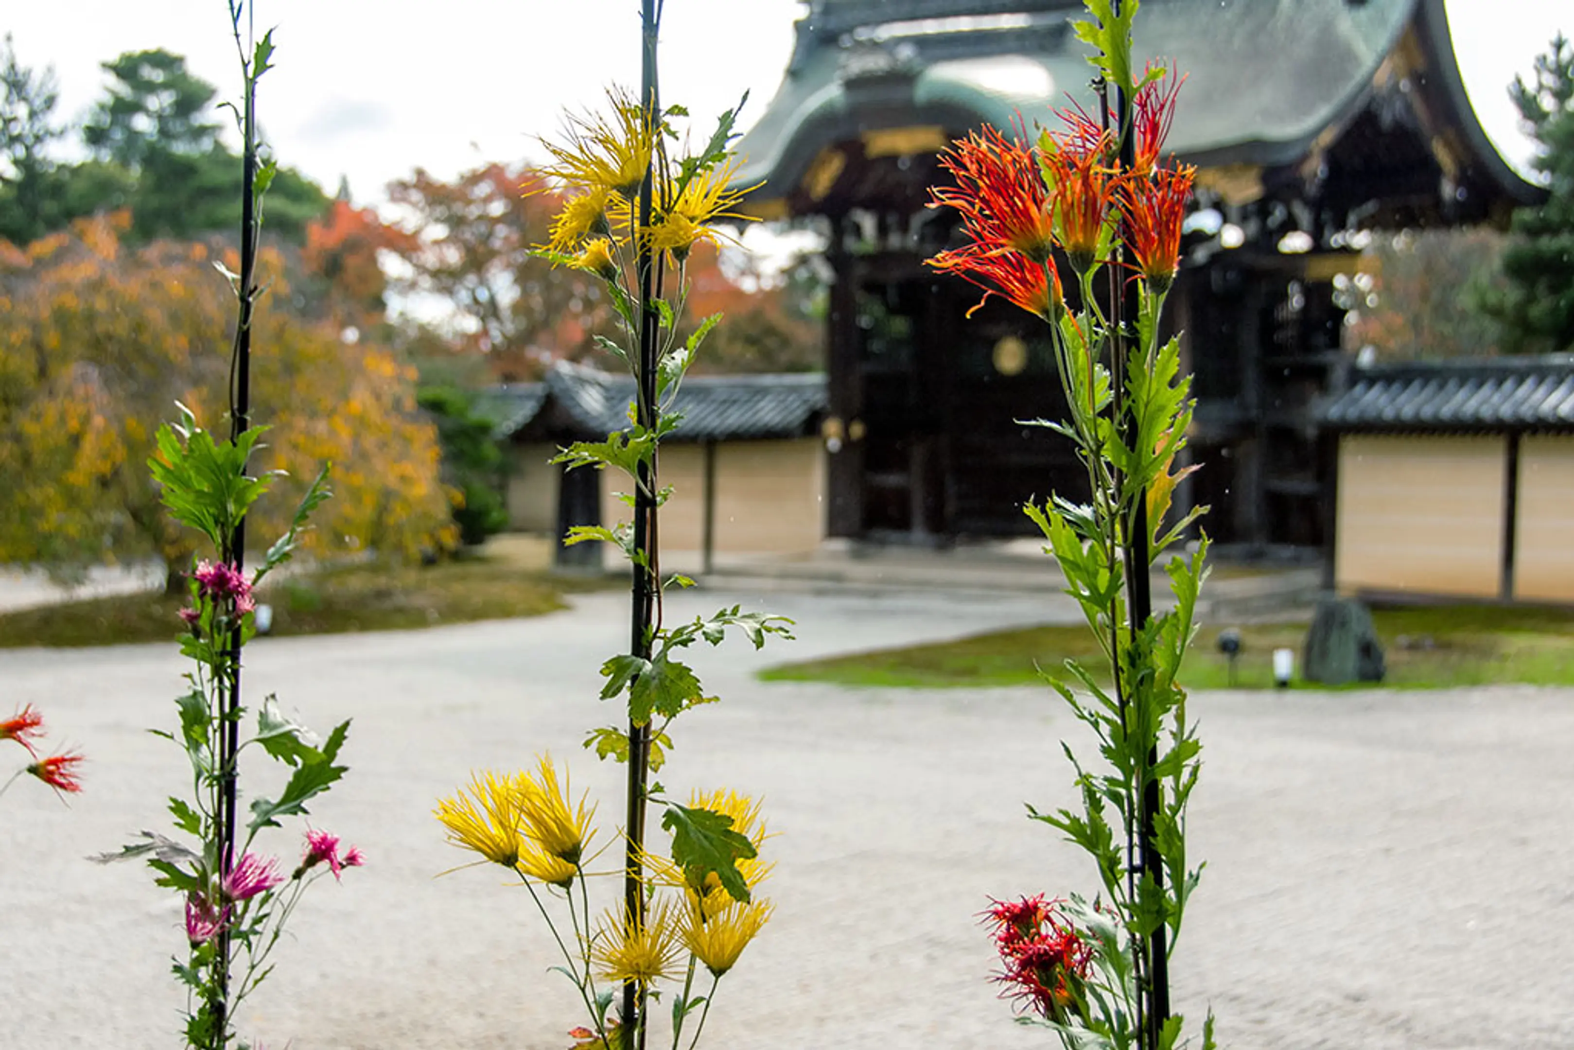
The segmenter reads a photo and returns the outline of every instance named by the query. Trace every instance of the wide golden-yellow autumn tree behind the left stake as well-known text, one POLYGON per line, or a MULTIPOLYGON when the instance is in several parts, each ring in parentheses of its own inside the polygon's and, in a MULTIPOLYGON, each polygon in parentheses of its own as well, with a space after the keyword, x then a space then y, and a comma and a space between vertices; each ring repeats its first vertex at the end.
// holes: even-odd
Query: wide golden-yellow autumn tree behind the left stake
MULTIPOLYGON (((154 556, 181 584, 192 538, 161 512, 146 460, 175 401, 222 425, 233 294, 214 268, 222 249, 129 249, 127 224, 80 220, 0 255, 0 560, 154 556)), ((286 471, 285 490, 334 463, 335 497, 309 543, 320 554, 348 546, 406 557, 452 545, 438 436, 416 412, 412 370, 275 309, 288 302, 277 253, 264 252, 263 271, 252 406, 271 430, 255 461, 286 471)), ((268 505, 293 507, 293 496, 268 505)))

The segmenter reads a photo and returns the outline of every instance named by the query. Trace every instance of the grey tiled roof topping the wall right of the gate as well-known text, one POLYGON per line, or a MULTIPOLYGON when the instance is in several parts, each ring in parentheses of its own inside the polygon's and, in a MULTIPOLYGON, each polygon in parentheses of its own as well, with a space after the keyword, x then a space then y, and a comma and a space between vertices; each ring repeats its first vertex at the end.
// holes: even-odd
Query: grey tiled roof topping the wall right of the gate
POLYGON ((1574 431, 1574 356, 1380 365, 1328 403, 1332 430, 1574 431))

